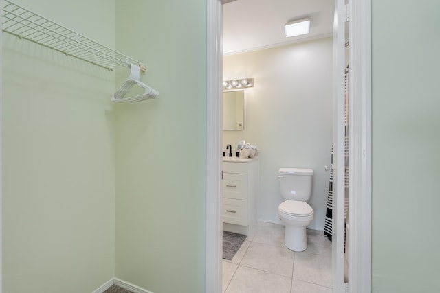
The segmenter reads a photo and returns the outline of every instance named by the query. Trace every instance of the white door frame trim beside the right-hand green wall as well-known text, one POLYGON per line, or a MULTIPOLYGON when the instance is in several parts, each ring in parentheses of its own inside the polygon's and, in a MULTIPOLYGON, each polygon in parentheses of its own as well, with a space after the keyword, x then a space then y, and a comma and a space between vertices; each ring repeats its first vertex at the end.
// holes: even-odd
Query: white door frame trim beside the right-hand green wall
POLYGON ((349 0, 348 292, 371 292, 371 0, 349 0))

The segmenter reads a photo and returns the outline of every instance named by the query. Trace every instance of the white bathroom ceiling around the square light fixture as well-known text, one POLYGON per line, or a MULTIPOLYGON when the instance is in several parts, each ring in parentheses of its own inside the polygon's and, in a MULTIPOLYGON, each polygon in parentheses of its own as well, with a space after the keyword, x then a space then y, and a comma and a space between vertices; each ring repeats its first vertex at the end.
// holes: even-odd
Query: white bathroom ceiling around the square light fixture
POLYGON ((223 55, 331 36, 334 8, 332 0, 223 0, 223 55), (304 18, 310 33, 286 38, 285 23, 304 18))

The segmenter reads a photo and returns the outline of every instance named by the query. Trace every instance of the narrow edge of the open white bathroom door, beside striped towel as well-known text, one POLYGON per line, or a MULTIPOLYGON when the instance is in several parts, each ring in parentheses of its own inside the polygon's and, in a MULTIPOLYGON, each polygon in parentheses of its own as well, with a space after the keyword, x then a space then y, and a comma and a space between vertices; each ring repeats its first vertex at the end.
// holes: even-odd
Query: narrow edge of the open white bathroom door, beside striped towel
POLYGON ((345 19, 344 0, 336 0, 333 24, 333 292, 346 292, 344 283, 344 78, 345 19))

